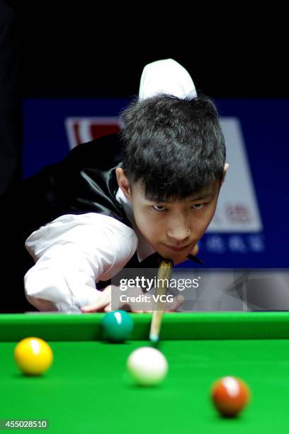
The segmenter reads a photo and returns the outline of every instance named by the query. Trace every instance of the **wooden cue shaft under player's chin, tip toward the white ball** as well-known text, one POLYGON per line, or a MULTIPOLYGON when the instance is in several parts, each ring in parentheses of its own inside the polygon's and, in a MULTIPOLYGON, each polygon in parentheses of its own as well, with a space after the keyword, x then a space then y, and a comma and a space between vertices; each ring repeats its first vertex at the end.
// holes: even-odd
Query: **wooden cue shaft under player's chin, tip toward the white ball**
MULTIPOLYGON (((171 271, 174 263, 171 260, 162 260, 159 265, 159 271, 157 274, 157 294, 159 296, 165 295, 168 289, 169 279, 171 279, 171 271)), ((157 310, 152 312, 152 323, 149 330, 149 340, 159 340, 159 331, 162 325, 163 309, 162 302, 158 301, 157 310)))

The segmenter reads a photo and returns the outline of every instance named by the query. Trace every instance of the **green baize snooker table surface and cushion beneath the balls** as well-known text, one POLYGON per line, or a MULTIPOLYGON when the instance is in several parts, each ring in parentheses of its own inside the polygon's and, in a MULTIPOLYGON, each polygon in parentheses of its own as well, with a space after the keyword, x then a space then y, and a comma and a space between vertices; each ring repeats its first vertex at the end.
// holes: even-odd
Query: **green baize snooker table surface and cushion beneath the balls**
POLYGON ((0 315, 0 419, 47 420, 48 433, 288 433, 288 312, 164 313, 169 373, 150 388, 132 384, 125 365, 149 345, 151 314, 130 313, 135 328, 120 344, 103 341, 103 315, 0 315), (13 361, 28 336, 54 352, 42 377, 23 376, 13 361), (227 375, 244 379, 252 396, 233 419, 210 402, 212 382, 227 375))

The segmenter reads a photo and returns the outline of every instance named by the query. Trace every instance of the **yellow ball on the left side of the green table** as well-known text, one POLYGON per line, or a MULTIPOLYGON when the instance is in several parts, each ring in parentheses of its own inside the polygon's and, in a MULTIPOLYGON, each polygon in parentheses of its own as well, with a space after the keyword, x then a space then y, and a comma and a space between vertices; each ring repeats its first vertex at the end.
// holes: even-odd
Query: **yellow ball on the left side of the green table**
POLYGON ((53 353, 45 340, 25 338, 16 345, 14 359, 24 374, 40 375, 51 366, 53 353))

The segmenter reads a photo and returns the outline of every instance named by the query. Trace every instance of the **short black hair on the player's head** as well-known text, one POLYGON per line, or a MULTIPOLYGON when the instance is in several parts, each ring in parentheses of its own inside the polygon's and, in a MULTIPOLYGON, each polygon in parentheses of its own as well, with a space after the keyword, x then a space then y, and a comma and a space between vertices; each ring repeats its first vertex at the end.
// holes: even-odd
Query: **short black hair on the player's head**
POLYGON ((123 169, 149 199, 186 199, 222 179, 225 139, 207 96, 135 99, 121 121, 123 169))

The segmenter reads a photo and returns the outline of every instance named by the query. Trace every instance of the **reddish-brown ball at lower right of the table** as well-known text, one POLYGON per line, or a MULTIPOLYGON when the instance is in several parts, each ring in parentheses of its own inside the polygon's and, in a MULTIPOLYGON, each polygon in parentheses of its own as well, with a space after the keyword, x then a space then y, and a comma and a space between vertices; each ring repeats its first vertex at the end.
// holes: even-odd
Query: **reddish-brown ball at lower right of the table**
POLYGON ((234 417, 248 404, 250 390, 242 379, 223 377, 212 384, 211 396, 222 416, 234 417))

